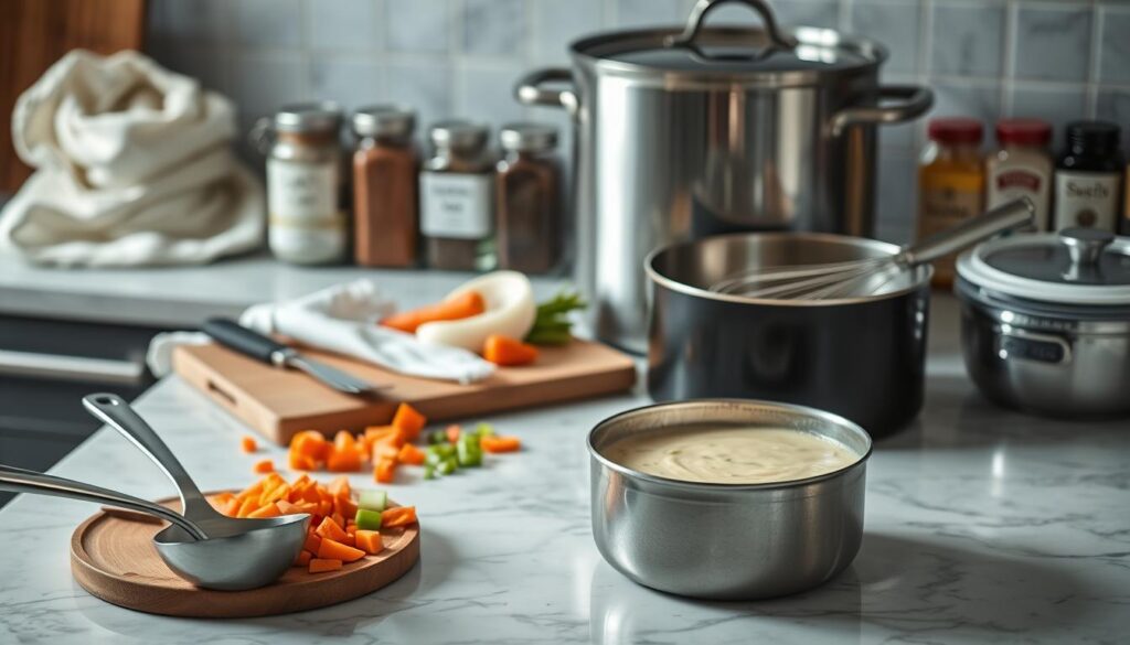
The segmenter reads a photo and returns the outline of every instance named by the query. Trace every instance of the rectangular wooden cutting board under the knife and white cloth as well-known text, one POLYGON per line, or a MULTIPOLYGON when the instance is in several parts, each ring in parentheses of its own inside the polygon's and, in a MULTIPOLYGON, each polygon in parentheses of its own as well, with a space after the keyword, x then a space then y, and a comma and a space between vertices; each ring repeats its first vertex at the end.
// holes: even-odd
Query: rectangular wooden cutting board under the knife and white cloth
POLYGON ((619 392, 632 387, 636 380, 631 357, 582 340, 540 349, 533 365, 501 367, 490 377, 469 385, 394 374, 316 350, 304 349, 303 354, 392 389, 368 399, 344 394, 305 373, 278 369, 215 343, 176 348, 173 369, 280 445, 288 444, 301 430, 332 434, 388 424, 401 401, 433 421, 475 420, 503 410, 619 392))

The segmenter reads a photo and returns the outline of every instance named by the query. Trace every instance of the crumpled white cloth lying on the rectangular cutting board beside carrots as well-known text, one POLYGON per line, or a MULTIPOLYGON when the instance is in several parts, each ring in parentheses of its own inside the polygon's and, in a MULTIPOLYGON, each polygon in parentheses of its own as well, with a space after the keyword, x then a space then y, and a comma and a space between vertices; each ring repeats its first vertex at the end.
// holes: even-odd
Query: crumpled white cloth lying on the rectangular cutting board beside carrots
MULTIPOLYGON (((472 383, 494 373, 494 364, 466 349, 424 345, 414 334, 376 324, 394 308, 376 284, 362 279, 286 303, 253 305, 240 316, 240 324, 410 376, 472 383)), ((149 345, 149 369, 163 376, 172 368, 174 347, 206 342, 202 333, 158 334, 149 345)))

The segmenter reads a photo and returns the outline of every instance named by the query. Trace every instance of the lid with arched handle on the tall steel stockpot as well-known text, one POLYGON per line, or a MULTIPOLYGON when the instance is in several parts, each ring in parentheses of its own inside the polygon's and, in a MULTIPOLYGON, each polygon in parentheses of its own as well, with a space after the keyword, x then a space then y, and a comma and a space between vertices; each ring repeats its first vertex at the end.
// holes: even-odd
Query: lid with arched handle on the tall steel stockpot
POLYGON ((685 27, 608 32, 571 45, 574 55, 602 71, 687 80, 816 85, 827 76, 871 69, 887 51, 866 38, 834 29, 782 29, 764 0, 699 0, 685 27), (723 3, 740 3, 760 15, 760 27, 704 27, 723 3))

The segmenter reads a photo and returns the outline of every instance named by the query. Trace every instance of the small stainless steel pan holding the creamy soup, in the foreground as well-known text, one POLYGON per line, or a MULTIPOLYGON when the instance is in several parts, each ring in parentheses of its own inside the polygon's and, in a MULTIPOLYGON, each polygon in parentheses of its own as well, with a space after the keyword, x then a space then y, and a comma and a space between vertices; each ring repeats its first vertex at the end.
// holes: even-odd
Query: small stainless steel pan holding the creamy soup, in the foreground
POLYGON ((870 453, 862 428, 800 406, 699 400, 623 412, 589 434, 597 548, 633 581, 680 595, 757 599, 811 589, 859 551, 870 453), (724 485, 642 473, 602 452, 638 433, 703 422, 793 428, 835 441, 860 459, 809 479, 724 485))

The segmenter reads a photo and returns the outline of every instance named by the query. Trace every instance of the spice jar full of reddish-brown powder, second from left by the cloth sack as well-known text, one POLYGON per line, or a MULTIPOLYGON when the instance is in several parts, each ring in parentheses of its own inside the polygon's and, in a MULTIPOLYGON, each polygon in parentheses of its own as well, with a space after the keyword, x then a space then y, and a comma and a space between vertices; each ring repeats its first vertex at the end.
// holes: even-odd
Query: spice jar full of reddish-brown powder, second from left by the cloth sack
POLYGON ((415 125, 411 110, 392 105, 363 107, 353 115, 354 254, 363 267, 416 262, 415 125))

